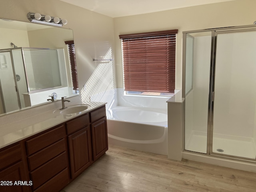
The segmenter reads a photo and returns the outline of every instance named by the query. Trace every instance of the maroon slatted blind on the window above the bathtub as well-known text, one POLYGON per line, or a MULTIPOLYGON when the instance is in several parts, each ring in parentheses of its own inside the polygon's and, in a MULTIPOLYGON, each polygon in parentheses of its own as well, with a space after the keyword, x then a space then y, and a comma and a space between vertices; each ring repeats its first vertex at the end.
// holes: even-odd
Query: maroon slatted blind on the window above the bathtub
POLYGON ((174 93, 177 33, 168 30, 119 36, 124 90, 174 93))

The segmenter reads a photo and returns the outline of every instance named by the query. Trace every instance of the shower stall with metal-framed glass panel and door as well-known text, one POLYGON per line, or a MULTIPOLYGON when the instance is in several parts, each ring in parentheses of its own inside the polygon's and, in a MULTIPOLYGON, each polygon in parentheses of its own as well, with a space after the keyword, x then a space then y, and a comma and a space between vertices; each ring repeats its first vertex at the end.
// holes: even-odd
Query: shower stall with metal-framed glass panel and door
POLYGON ((184 150, 256 161, 256 26, 183 32, 184 150))

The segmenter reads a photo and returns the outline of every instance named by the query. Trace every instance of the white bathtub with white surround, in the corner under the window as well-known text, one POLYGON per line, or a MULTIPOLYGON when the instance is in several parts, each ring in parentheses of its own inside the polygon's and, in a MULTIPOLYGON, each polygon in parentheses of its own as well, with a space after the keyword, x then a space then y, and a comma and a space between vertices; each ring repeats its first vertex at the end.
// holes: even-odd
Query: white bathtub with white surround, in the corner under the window
POLYGON ((90 96, 106 102, 108 143, 167 155, 167 103, 169 97, 125 95, 116 88, 90 96))

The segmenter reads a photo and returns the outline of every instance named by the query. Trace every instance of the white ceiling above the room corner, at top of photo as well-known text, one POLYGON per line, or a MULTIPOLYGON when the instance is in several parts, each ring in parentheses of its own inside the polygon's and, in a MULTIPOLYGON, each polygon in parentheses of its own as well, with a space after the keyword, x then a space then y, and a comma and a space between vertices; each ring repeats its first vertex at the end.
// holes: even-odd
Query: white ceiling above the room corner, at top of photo
POLYGON ((112 18, 232 0, 61 0, 112 18))

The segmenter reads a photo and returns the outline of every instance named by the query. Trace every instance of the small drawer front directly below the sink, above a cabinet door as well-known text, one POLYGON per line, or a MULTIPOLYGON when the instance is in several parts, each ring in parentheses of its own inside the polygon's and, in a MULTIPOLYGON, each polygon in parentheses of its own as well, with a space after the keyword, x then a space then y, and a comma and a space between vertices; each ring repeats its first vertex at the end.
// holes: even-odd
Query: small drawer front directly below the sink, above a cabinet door
POLYGON ((66 123, 67 134, 76 132, 77 130, 87 126, 88 124, 89 124, 89 115, 88 113, 86 113, 83 116, 75 118, 74 120, 66 123))

